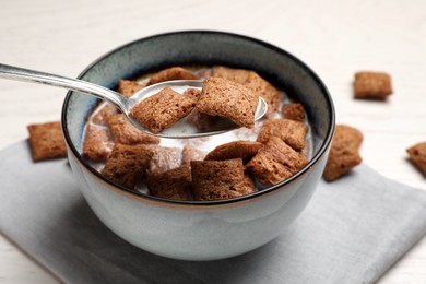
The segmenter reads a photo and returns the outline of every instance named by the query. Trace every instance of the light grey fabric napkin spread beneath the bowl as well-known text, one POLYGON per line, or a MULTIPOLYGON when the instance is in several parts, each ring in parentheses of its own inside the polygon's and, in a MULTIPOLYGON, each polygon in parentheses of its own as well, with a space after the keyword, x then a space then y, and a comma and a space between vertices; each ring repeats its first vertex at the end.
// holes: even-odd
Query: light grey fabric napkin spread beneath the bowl
POLYGON ((0 152, 0 180, 2 234, 68 283, 371 283, 426 234, 426 192, 365 165, 321 181, 275 240, 209 262, 127 244, 94 215, 66 159, 35 164, 26 141, 0 152))

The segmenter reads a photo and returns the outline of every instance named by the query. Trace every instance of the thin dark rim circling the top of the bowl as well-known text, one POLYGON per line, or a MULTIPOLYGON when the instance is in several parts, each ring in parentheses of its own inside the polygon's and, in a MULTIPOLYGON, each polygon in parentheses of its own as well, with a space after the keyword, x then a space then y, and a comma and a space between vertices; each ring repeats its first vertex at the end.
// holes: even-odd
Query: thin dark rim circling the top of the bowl
POLYGON ((262 189, 260 191, 256 191, 256 192, 242 196, 242 197, 230 198, 230 199, 223 199, 223 200, 211 200, 211 201, 192 201, 192 200, 191 201, 181 201, 181 200, 170 200, 170 199, 165 199, 165 198, 158 198, 158 197, 154 197, 154 196, 150 196, 150 194, 139 193, 137 191, 133 191, 131 189, 125 188, 125 187, 114 182, 113 180, 110 180, 110 179, 106 178, 105 176, 103 176, 95 168, 93 168, 82 157, 82 155, 79 153, 79 151, 74 146, 74 144, 73 144, 73 142, 72 142, 72 140, 71 140, 71 138, 70 138, 70 135, 68 133, 67 109, 68 109, 68 105, 69 105, 70 98, 71 98, 72 94, 74 93, 73 91, 69 91, 67 93, 67 96, 66 96, 63 105, 62 105, 62 115, 61 115, 62 132, 63 132, 63 135, 64 135, 64 140, 66 140, 69 149, 72 151, 73 155, 78 158, 80 164, 82 164, 90 173, 92 173, 95 177, 99 178, 102 181, 104 181, 107 185, 111 186, 111 188, 118 189, 119 192, 127 193, 127 194, 130 193, 131 197, 134 197, 138 200, 154 201, 154 202, 159 202, 159 203, 167 203, 167 204, 170 204, 170 205, 191 205, 191 206, 221 205, 221 204, 228 204, 228 203, 239 203, 241 201, 256 199, 256 198, 262 197, 262 196, 264 196, 267 193, 270 193, 270 192, 273 192, 275 190, 282 189, 282 188, 284 188, 284 186, 289 185, 293 180, 298 179, 300 176, 303 176, 308 170, 310 170, 310 168, 312 168, 320 161, 320 158, 327 153, 327 151, 329 149, 329 145, 332 142, 332 138, 333 138, 333 134, 334 134, 334 126, 335 126, 335 109, 334 109, 332 97, 331 97, 328 88, 326 87, 326 85, 322 82, 322 80, 305 62, 303 62, 300 59, 298 59, 297 57, 293 56, 288 51, 286 51, 286 50, 284 50, 282 48, 279 48, 279 47, 276 47, 276 46, 274 46, 272 44, 269 44, 269 43, 267 43, 264 40, 261 40, 261 39, 257 39, 257 38, 249 37, 249 36, 246 36, 246 35, 229 33, 229 32, 208 31, 208 29, 189 29, 189 31, 176 31, 176 32, 155 34, 155 35, 151 35, 151 36, 146 36, 146 37, 142 37, 142 38, 139 38, 139 39, 131 40, 131 42, 129 42, 127 44, 118 46, 118 47, 114 48, 113 50, 104 54, 103 56, 100 56, 97 59, 95 59, 91 64, 88 64, 78 75, 78 79, 81 79, 83 75, 85 75, 94 66, 96 66, 103 59, 109 57, 110 55, 113 55, 113 54, 115 54, 115 52, 117 52, 117 51, 119 51, 119 50, 121 50, 121 49, 123 49, 123 48, 126 48, 128 46, 131 46, 131 45, 137 44, 139 42, 150 40, 150 39, 157 38, 157 37, 165 37, 165 36, 179 35, 179 34, 200 34, 200 35, 208 34, 208 35, 223 35, 223 36, 237 37, 237 38, 240 38, 240 39, 244 39, 244 40, 248 40, 248 42, 252 42, 255 44, 261 45, 261 46, 263 46, 263 47, 265 47, 268 49, 272 49, 272 50, 274 50, 274 51, 276 51, 279 54, 282 54, 282 55, 291 58, 292 60, 294 60, 297 64, 299 64, 303 69, 305 69, 308 72, 308 74, 316 81, 318 86, 321 88, 322 93, 326 95, 326 99, 327 99, 327 103, 328 103, 329 109, 330 109, 331 121, 330 121, 329 128, 327 130, 327 135, 326 135, 324 141, 322 142, 322 145, 320 146, 318 152, 312 156, 312 158, 310 158, 309 162, 301 169, 299 169, 296 174, 294 174, 292 177, 289 177, 289 178, 279 182, 279 184, 276 184, 276 185, 274 185, 272 187, 262 189))

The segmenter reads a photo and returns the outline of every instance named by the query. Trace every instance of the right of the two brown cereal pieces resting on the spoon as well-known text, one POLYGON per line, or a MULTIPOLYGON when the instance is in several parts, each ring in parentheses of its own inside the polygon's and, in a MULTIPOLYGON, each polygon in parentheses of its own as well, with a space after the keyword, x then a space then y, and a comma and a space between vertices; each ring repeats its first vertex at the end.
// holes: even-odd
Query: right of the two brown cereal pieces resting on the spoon
POLYGON ((247 87, 222 78, 204 81, 196 108, 211 116, 226 117, 247 128, 255 126, 257 96, 247 87))

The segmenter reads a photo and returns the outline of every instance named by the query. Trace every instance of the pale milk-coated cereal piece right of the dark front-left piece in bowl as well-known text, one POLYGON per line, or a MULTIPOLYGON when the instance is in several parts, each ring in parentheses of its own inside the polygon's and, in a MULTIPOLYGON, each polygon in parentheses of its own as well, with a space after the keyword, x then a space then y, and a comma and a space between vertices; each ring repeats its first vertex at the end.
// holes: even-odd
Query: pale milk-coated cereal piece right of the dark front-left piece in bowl
POLYGON ((180 167, 182 151, 179 147, 153 146, 154 155, 151 158, 147 173, 158 175, 173 168, 180 167))

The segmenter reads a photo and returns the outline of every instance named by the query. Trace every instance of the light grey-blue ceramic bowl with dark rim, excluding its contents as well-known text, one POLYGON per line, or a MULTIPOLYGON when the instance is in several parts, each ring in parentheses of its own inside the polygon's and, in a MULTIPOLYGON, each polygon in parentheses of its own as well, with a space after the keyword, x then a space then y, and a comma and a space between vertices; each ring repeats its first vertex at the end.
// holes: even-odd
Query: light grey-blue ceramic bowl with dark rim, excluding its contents
POLYGON ((68 156, 88 205, 125 240, 175 259, 228 258, 269 242, 306 208, 327 162, 333 104, 321 80, 296 57, 268 43, 221 32, 142 38, 100 57, 79 78, 114 88, 122 78, 188 64, 255 70, 301 102, 313 137, 310 162, 283 182, 235 199, 185 202, 138 194, 108 181, 82 158, 83 127, 96 99, 78 92, 68 94, 62 110, 68 156))

